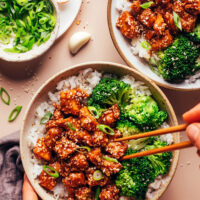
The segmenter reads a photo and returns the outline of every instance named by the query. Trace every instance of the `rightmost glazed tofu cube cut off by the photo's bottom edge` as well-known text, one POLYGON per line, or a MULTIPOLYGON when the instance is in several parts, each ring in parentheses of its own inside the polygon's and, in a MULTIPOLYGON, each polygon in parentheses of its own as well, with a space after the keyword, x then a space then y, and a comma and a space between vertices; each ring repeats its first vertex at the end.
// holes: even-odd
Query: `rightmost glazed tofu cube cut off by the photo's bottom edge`
POLYGON ((116 185, 105 186, 100 193, 100 200, 119 200, 119 190, 116 185))

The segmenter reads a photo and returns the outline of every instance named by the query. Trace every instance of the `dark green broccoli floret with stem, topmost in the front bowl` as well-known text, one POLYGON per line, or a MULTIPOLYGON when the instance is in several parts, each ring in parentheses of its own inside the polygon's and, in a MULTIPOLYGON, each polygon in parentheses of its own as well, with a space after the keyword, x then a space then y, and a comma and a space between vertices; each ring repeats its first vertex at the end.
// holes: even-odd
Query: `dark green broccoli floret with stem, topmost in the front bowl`
POLYGON ((114 78, 103 78, 95 86, 88 105, 99 104, 101 107, 108 107, 114 104, 123 105, 128 98, 130 85, 114 78))

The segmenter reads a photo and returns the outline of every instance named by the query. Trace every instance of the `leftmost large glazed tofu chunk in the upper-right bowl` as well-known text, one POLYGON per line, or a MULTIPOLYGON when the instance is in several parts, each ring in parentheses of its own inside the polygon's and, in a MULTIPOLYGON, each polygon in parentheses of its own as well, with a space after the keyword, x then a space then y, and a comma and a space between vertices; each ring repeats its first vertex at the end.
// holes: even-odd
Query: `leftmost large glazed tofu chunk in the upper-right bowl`
POLYGON ((140 33, 139 22, 127 11, 119 16, 116 27, 119 28, 121 33, 128 39, 138 37, 140 33))

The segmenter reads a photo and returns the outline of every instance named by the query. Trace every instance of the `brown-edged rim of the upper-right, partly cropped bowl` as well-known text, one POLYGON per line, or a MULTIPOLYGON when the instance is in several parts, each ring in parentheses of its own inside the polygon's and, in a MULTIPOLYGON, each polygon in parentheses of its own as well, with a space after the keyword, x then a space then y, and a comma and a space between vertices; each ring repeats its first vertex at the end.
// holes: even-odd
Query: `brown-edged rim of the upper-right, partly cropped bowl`
MULTIPOLYGON (((114 31, 113 31, 113 26, 112 26, 112 15, 111 15, 111 6, 112 6, 112 2, 113 0, 108 0, 107 3, 107 23, 108 23, 108 28, 109 28, 109 33, 111 36, 111 39, 113 41, 113 44, 115 46, 115 49, 118 51, 119 55, 122 57, 122 59, 126 62, 126 64, 131 67, 136 69, 137 71, 140 71, 139 69, 137 69, 125 56, 125 54, 123 53, 123 50, 119 47, 117 39, 115 37, 114 31)), ((142 72, 140 72, 142 73, 142 72)), ((153 80, 151 77, 148 77, 149 79, 151 79, 152 81, 154 81, 157 85, 167 88, 167 89, 172 89, 175 91, 185 91, 185 92, 189 92, 189 91, 197 91, 200 90, 200 88, 178 88, 178 87, 173 87, 170 85, 166 85, 164 83, 160 83, 158 81, 153 80)))

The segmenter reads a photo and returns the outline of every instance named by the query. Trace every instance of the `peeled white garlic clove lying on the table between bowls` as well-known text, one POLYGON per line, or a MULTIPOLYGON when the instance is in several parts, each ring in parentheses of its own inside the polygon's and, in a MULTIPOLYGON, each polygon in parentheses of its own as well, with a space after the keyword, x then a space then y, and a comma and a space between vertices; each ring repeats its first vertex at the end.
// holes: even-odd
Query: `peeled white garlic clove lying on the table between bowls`
POLYGON ((69 49, 72 54, 76 54, 91 38, 88 32, 80 31, 74 33, 69 40, 69 49))

